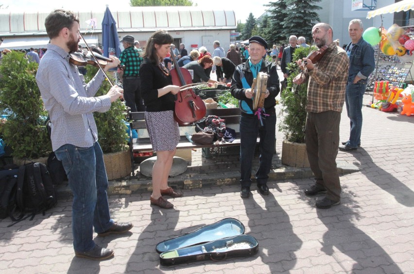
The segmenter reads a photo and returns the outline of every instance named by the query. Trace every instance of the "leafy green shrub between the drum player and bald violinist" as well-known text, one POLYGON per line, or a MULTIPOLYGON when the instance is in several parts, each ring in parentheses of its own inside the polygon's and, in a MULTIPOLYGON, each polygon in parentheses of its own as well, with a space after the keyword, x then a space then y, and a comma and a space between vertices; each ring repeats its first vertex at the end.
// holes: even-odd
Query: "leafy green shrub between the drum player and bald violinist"
MULTIPOLYGON (((309 48, 296 48, 293 60, 302 59, 309 52, 309 48)), ((283 121, 279 124, 279 130, 284 132, 287 141, 305 143, 308 82, 301 85, 293 83, 293 79, 301 73, 295 62, 288 64, 288 69, 291 73, 287 80, 287 88, 283 91, 280 99, 282 105, 280 116, 283 117, 283 121)))

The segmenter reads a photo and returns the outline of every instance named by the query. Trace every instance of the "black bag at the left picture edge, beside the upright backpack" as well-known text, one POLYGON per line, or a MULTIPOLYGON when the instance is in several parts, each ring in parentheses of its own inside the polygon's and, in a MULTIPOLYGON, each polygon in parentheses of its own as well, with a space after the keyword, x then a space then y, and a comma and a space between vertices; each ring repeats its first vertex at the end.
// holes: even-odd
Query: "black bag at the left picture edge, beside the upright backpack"
POLYGON ((18 169, 0 171, 0 219, 11 216, 16 208, 18 169))

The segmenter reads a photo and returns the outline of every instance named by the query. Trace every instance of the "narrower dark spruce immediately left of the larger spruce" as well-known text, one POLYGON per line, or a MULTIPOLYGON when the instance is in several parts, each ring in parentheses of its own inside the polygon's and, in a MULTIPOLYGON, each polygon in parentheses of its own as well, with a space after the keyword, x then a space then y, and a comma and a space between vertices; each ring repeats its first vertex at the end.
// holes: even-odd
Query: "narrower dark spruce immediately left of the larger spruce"
POLYGON ((286 41, 286 35, 283 32, 283 21, 287 16, 286 0, 278 0, 276 2, 269 2, 269 19, 272 25, 272 29, 269 31, 269 35, 275 43, 283 43, 286 41))

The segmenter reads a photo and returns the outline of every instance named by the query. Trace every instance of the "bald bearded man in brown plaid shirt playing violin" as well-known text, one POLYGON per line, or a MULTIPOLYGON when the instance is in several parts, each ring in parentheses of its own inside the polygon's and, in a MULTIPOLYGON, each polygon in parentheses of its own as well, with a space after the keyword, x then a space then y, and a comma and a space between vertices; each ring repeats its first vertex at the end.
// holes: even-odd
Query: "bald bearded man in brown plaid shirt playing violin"
POLYGON ((341 184, 336 169, 339 146, 339 123, 345 100, 348 77, 348 56, 332 41, 332 28, 318 23, 312 28, 312 37, 318 48, 327 45, 323 57, 313 64, 309 58, 296 63, 304 69, 293 82, 309 80, 305 129, 306 151, 316 182, 305 194, 326 193, 316 201, 316 207, 328 209, 341 202, 341 184))

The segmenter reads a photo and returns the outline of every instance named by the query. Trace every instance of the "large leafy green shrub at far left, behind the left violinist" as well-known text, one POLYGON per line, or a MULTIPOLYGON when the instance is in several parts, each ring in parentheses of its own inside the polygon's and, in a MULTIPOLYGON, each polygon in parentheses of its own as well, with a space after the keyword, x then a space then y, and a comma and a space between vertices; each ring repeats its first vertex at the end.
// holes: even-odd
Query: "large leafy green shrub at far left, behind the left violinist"
POLYGON ((0 129, 18 159, 44 157, 52 150, 45 129, 48 113, 35 81, 37 67, 19 51, 4 55, 0 64, 0 111, 7 115, 0 129))

